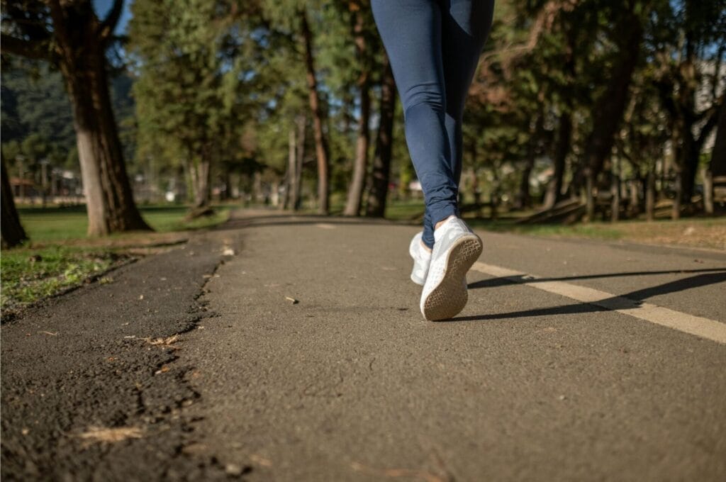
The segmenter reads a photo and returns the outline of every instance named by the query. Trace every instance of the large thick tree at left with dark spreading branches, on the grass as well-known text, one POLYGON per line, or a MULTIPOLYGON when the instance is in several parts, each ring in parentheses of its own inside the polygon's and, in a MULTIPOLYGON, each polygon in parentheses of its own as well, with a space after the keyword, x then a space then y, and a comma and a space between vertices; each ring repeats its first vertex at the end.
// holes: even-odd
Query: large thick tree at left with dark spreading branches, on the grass
POLYGON ((91 0, 5 0, 1 52, 46 60, 63 75, 73 106, 88 234, 150 229, 131 192, 111 107, 106 49, 123 8, 100 20, 91 0))

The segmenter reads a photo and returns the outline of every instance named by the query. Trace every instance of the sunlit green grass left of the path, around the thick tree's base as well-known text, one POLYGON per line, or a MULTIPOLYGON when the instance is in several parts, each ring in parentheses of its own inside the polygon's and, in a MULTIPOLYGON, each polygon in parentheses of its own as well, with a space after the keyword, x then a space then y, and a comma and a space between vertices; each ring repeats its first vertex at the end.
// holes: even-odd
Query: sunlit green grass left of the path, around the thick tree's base
MULTIPOLYGON (((155 232, 131 232, 109 237, 86 237, 88 220, 83 206, 18 208, 30 243, 0 256, 0 308, 3 319, 41 298, 94 279, 138 255, 134 248, 166 245, 186 239, 188 232, 221 224, 234 205, 215 206, 213 216, 184 221, 185 206, 140 206, 155 232)), ((100 277, 100 282, 113 282, 100 277)))

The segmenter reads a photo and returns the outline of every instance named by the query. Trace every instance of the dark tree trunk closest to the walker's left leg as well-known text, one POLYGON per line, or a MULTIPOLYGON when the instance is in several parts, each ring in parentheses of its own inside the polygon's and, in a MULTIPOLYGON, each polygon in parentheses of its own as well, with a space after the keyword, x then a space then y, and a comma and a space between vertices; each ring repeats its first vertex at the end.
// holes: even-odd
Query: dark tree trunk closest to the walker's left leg
POLYGON ((393 118, 396 111, 396 81, 388 57, 383 59, 383 76, 380 87, 380 120, 375 139, 372 182, 366 216, 383 218, 386 215, 388 184, 391 178, 391 152, 393 149, 393 118))

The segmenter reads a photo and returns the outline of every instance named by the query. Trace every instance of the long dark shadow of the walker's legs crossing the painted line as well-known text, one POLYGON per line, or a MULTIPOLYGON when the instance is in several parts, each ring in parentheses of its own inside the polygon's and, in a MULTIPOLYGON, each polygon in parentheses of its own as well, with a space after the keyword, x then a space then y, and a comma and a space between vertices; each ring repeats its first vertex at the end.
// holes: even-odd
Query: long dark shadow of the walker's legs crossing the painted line
MULTIPOLYGON (((690 290, 691 288, 714 285, 720 282, 726 282, 726 269, 696 269, 696 270, 684 270, 684 271, 653 271, 637 274, 668 274, 668 273, 682 273, 682 272, 693 272, 696 276, 676 279, 671 282, 663 283, 653 287, 643 288, 640 290, 631 291, 624 295, 614 295, 611 298, 597 301, 597 305, 591 303, 574 303, 570 305, 561 306, 550 306, 548 308, 530 309, 523 311, 511 311, 509 313, 499 314, 484 314, 477 316, 460 316, 446 320, 448 322, 473 322, 473 321, 484 321, 490 319, 510 319, 510 318, 526 318, 529 316, 550 316, 558 314, 583 314, 583 313, 594 313, 597 311, 611 311, 618 309, 633 309, 642 306, 643 301, 653 296, 666 295, 669 293, 679 293, 681 291, 690 290), (711 271, 711 272, 703 272, 711 271), (718 271, 718 272, 712 272, 718 271)), ((612 277, 612 276, 627 276, 627 273, 621 274, 604 274, 604 275, 592 275, 590 277, 566 277, 566 278, 547 278, 547 279, 524 279, 520 280, 515 277, 509 278, 495 278, 491 281, 496 284, 488 286, 502 286, 518 284, 520 282, 542 282, 542 281, 555 281, 563 279, 587 279, 593 277, 612 277)), ((476 287, 484 287, 481 282, 472 283, 476 287)))

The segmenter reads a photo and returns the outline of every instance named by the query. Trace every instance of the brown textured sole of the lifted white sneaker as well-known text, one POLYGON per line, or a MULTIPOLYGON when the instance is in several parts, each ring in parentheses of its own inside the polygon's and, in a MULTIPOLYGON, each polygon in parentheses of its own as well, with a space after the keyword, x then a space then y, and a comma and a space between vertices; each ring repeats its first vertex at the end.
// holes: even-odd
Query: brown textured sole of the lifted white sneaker
POLYGON ((459 314, 469 299, 466 273, 481 255, 481 240, 476 236, 465 236, 449 250, 446 271, 439 285, 429 293, 423 302, 423 316, 435 322, 459 314))

